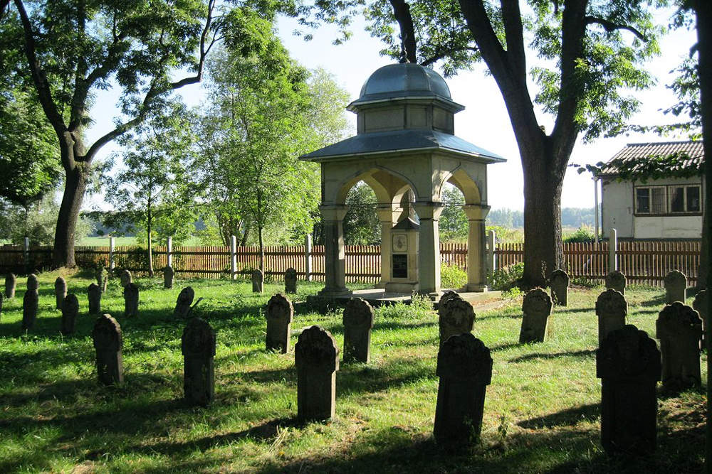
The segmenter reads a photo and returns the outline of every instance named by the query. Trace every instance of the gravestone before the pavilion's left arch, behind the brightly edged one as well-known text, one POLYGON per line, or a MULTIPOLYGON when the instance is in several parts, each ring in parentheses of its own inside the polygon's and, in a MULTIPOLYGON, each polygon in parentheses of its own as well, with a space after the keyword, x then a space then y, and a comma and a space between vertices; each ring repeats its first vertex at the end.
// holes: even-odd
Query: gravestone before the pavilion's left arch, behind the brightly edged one
POLYGON ((373 308, 362 298, 352 298, 346 303, 342 317, 344 325, 344 362, 371 360, 371 329, 373 308))

